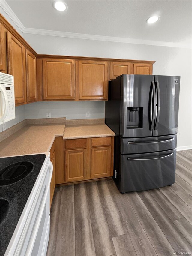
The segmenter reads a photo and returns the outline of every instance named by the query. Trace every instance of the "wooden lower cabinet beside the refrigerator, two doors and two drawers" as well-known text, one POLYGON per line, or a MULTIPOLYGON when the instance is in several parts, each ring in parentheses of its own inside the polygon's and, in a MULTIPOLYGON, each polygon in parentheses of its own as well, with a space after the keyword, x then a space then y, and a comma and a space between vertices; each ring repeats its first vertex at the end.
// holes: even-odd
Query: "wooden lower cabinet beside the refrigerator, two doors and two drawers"
POLYGON ((65 140, 64 145, 65 182, 113 176, 114 137, 65 140))

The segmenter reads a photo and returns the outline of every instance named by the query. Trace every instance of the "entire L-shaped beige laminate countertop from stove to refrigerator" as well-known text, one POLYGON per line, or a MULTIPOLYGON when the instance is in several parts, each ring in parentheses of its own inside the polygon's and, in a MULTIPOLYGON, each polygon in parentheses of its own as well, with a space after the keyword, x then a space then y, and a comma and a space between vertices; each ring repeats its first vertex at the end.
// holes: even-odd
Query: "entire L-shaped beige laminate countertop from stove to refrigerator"
POLYGON ((66 125, 65 123, 26 125, 1 141, 0 155, 25 155, 49 152, 55 137, 76 139, 115 136, 106 124, 66 125))

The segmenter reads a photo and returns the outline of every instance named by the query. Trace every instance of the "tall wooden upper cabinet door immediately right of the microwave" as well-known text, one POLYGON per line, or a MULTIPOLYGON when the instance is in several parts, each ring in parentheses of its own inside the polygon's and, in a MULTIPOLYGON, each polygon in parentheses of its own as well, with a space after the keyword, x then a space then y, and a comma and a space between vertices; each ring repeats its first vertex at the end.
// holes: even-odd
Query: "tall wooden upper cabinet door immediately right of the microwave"
POLYGON ((25 47, 10 32, 7 32, 8 73, 14 76, 15 104, 26 102, 25 47))

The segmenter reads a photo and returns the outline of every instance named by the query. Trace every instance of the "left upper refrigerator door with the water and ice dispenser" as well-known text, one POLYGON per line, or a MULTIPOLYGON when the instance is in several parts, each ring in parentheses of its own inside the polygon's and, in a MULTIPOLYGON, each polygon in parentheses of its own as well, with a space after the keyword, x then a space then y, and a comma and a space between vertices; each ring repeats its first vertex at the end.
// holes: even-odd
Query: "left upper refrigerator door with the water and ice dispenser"
POLYGON ((124 138, 153 136, 155 76, 122 75, 120 135, 124 138), (122 125, 121 125, 122 124, 122 125))

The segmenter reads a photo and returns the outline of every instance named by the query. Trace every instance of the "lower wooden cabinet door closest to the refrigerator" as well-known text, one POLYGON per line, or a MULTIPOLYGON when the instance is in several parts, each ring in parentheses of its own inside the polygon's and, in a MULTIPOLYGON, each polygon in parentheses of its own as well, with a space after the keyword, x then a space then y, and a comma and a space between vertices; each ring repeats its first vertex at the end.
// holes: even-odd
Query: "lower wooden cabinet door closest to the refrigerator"
POLYGON ((111 176, 111 147, 91 149, 91 178, 111 176))

